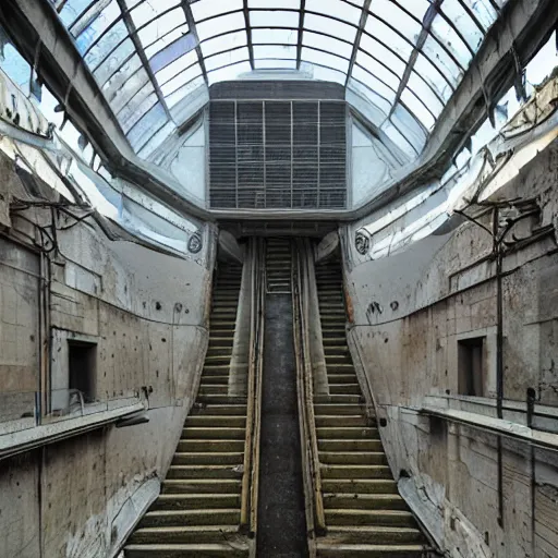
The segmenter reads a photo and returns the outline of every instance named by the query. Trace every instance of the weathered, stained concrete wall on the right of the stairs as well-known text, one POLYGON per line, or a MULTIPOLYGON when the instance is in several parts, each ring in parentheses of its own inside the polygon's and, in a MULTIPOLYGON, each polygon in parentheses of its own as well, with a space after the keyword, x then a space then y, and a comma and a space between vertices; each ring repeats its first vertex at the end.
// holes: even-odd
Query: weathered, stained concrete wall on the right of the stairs
MULTIPOLYGON (((531 198, 541 218, 504 262, 505 414, 526 424, 527 387, 558 433, 558 145, 541 153, 499 198, 531 198), (546 229, 545 229, 546 228, 546 229), (544 233, 547 231, 547 233, 544 233)), ((490 225, 489 216, 482 218, 490 225)), ((498 442, 493 434, 418 412, 423 407, 496 416, 496 268, 489 234, 473 223, 408 251, 359 263, 345 236, 345 280, 362 361, 389 463, 402 494, 452 557, 558 556, 558 451, 502 438, 504 517, 498 521, 498 442), (349 246, 349 250, 347 247, 349 246), (485 338, 484 396, 458 393, 458 341, 485 338)), ((556 448, 558 450, 558 436, 556 448)))

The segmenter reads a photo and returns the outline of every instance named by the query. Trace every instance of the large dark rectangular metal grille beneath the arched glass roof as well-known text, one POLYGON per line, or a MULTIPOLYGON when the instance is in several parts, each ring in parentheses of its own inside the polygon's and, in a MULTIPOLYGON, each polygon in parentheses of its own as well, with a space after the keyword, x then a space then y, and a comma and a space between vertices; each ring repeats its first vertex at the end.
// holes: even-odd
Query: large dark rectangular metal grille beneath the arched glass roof
POLYGON ((344 209, 344 101, 217 101, 209 106, 214 209, 344 209))

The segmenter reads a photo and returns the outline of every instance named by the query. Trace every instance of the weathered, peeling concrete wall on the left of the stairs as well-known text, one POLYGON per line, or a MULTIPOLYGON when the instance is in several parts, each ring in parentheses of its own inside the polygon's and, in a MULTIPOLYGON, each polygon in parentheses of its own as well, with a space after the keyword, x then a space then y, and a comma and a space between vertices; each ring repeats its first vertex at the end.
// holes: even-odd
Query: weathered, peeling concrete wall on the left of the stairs
MULTIPOLYGON (((49 209, 23 215, 50 223, 49 209)), ((108 408, 143 401, 149 422, 109 425, 0 460, 0 558, 109 557, 157 495, 207 347, 214 236, 206 228, 194 262, 110 242, 89 219, 59 229, 58 252, 49 255, 48 374, 39 360, 45 283, 37 236, 29 222, 12 218, 0 236, 0 401, 12 402, 9 415, 0 405, 0 433, 34 423, 23 416, 33 416, 34 401, 17 393, 34 397, 41 374, 51 378, 61 415, 43 422, 74 420, 68 410, 72 339, 97 344, 97 401, 86 411, 101 417, 108 408)))

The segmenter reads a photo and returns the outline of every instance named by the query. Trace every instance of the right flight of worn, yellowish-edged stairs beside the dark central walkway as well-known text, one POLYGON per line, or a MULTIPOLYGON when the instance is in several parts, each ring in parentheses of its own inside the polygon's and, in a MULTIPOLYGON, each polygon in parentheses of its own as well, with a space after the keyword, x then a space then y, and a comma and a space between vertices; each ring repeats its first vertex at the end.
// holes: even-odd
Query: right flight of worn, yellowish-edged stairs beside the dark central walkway
POLYGON ((329 396, 314 398, 327 536, 319 558, 426 555, 426 541, 399 496, 376 427, 366 416, 347 345, 339 263, 316 266, 329 396))

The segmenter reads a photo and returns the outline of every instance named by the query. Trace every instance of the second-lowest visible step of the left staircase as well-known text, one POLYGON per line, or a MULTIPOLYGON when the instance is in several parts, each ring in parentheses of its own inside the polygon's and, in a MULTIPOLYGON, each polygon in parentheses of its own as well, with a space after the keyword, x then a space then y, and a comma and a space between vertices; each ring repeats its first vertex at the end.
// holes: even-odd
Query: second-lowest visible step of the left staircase
POLYGON ((235 525, 191 525, 178 527, 138 529, 131 537, 130 544, 205 544, 223 543, 236 538, 235 525))

